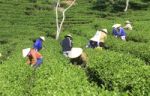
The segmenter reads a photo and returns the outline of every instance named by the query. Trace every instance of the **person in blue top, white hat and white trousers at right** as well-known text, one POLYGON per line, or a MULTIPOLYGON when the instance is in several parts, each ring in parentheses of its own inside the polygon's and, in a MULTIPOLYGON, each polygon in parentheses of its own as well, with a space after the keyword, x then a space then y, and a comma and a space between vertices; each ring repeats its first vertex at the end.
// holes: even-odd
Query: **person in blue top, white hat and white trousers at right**
POLYGON ((121 27, 121 24, 114 24, 113 26, 113 35, 116 38, 121 38, 123 41, 126 40, 126 33, 124 31, 124 29, 121 27))

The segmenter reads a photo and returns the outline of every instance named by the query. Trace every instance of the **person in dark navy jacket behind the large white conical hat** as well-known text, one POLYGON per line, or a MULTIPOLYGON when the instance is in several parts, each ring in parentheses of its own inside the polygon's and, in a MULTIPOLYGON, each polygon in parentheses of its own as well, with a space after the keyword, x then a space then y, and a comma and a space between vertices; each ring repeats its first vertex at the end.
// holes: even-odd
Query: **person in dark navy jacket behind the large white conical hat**
POLYGON ((72 36, 70 34, 66 35, 65 38, 61 42, 62 51, 65 57, 68 57, 68 53, 71 51, 73 46, 72 36))

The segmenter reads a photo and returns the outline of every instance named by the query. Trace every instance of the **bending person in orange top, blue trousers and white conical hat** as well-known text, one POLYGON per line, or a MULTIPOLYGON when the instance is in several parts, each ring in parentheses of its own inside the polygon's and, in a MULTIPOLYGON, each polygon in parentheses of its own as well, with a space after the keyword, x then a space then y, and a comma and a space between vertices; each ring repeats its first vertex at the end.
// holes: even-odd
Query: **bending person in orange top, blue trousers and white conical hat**
POLYGON ((33 67, 39 67, 42 62, 43 58, 42 55, 37 52, 34 48, 26 48, 22 50, 23 57, 28 57, 27 64, 30 64, 33 67))

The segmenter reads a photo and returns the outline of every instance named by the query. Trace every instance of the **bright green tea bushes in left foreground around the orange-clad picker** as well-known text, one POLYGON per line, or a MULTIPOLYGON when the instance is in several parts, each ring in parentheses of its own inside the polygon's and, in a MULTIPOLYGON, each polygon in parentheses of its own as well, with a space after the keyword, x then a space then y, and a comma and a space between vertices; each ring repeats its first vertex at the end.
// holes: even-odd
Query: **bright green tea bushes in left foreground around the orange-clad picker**
POLYGON ((5 61, 5 65, 0 66, 0 85, 2 86, 0 92, 2 95, 62 96, 73 94, 112 96, 118 94, 118 96, 124 96, 125 93, 108 92, 94 84, 90 84, 84 70, 79 66, 70 64, 61 55, 57 41, 46 38, 44 45, 44 49, 41 51, 44 63, 36 70, 30 68, 25 63, 26 60, 22 59, 20 51, 22 48, 27 47, 25 43, 22 43, 22 46, 16 46, 11 58, 5 61), (53 44, 57 46, 51 46, 53 44))

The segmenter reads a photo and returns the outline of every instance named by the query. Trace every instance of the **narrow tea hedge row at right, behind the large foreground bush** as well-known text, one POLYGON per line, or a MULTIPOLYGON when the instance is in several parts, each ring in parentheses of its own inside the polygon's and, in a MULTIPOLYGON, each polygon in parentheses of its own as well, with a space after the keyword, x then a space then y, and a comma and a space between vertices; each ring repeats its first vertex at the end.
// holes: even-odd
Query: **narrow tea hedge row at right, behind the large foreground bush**
POLYGON ((111 38, 111 42, 107 44, 110 46, 110 50, 114 50, 116 52, 124 52, 128 54, 132 54, 135 57, 138 57, 146 62, 149 65, 150 55, 149 53, 149 45, 144 43, 133 43, 133 42, 122 42, 119 40, 115 40, 115 38, 111 38))

